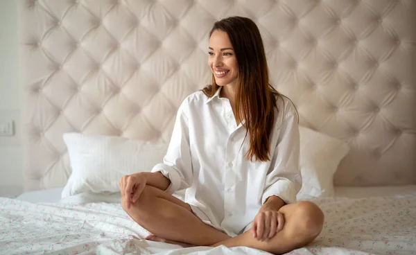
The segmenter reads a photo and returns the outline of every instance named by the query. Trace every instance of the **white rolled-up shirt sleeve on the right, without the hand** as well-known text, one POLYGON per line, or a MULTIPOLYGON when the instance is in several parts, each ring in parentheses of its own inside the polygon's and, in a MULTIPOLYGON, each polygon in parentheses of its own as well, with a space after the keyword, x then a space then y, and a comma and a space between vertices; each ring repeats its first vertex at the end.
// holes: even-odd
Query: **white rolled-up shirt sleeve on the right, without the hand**
POLYGON ((271 171, 266 176, 266 185, 261 197, 264 204, 268 197, 276 195, 286 204, 296 202, 296 195, 302 186, 299 153, 300 134, 297 114, 292 103, 286 104, 279 139, 272 157, 271 171))

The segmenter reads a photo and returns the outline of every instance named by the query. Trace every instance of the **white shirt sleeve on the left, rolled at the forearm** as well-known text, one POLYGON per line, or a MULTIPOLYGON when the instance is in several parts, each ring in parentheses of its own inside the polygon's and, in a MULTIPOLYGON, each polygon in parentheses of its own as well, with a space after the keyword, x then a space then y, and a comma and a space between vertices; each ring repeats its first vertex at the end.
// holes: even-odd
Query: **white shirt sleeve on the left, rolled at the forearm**
POLYGON ((160 172, 171 181, 166 188, 166 193, 189 188, 192 182, 192 161, 189 148, 189 121, 187 112, 189 105, 187 98, 177 110, 175 126, 171 141, 162 164, 157 164, 151 170, 152 173, 160 172))

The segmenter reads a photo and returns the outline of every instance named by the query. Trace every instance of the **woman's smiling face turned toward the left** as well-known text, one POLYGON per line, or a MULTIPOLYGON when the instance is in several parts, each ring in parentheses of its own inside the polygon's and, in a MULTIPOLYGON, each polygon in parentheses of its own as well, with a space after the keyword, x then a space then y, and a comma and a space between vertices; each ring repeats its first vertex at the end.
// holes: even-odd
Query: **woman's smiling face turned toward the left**
POLYGON ((239 66, 227 33, 215 30, 209 38, 208 65, 218 86, 235 85, 239 66))

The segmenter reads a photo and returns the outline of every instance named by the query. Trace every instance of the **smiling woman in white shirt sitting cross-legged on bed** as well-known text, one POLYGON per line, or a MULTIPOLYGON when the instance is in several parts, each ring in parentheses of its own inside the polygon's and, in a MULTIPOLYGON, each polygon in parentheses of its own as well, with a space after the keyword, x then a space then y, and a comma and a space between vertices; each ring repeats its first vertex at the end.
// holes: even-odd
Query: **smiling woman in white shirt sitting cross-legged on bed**
POLYGON ((297 114, 268 83, 256 24, 217 21, 208 64, 212 85, 180 105, 163 164, 120 180, 123 209, 153 234, 148 240, 276 254, 310 243, 324 217, 296 202, 297 114), (185 188, 184 201, 171 195, 185 188))

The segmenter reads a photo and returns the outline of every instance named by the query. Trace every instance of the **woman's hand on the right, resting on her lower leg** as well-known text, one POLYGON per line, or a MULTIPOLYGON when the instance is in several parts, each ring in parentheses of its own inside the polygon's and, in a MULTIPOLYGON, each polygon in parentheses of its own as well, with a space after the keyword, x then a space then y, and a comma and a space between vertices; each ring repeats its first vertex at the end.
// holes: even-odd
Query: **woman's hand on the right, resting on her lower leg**
POLYGON ((259 211, 252 222, 251 232, 253 237, 260 241, 267 241, 284 226, 283 214, 279 211, 265 209, 259 211))

